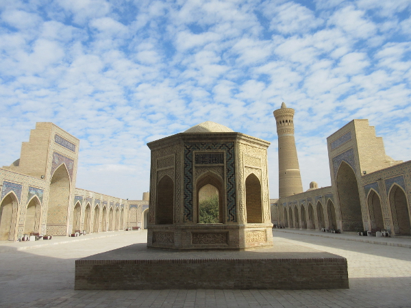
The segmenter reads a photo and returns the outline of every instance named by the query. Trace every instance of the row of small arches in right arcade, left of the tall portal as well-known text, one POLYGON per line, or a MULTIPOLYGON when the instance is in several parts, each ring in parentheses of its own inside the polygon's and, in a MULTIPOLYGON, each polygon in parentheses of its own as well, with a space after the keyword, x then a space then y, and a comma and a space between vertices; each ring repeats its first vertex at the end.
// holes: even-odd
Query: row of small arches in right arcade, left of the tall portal
POLYGON ((288 207, 288 210, 287 207, 284 207, 283 215, 285 227, 297 229, 338 229, 336 209, 330 199, 327 201, 327 211, 324 211, 323 204, 318 201, 315 211, 312 203, 308 203, 308 207, 294 205, 293 207, 288 207), (327 221, 325 217, 327 217, 327 221))

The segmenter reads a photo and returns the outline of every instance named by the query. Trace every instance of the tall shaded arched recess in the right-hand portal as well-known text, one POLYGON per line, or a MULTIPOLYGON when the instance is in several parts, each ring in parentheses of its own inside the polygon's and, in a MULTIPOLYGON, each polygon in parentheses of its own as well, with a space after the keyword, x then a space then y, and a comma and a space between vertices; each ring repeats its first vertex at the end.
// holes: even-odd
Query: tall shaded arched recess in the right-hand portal
POLYGON ((336 178, 338 198, 340 200, 343 231, 357 231, 363 228, 360 194, 353 168, 341 162, 336 178))

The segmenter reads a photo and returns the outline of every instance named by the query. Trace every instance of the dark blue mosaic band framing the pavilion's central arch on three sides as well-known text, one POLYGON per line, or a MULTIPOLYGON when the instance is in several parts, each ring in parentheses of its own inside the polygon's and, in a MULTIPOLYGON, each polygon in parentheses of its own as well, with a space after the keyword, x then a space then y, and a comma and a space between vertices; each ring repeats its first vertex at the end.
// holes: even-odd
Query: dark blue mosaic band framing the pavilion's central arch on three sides
POLYGON ((192 151, 225 151, 227 162, 227 222, 237 221, 234 142, 184 144, 184 221, 192 222, 192 151))

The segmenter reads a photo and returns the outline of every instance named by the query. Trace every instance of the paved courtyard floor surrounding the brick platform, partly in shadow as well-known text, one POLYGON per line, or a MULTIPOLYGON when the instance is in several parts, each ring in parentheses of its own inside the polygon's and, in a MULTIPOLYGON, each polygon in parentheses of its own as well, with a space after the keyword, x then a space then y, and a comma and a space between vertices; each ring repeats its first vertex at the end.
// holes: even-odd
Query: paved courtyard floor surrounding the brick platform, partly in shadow
POLYGON ((410 248, 286 231, 273 231, 274 243, 346 257, 350 289, 74 291, 75 259, 146 241, 146 231, 121 231, 0 242, 0 307, 411 307, 410 248))

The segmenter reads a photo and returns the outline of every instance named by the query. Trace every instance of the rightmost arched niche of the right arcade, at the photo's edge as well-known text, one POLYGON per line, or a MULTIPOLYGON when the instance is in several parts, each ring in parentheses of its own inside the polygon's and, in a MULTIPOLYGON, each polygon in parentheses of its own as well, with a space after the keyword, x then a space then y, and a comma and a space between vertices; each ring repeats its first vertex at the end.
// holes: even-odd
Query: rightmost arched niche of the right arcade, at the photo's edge
POLYGON ((399 185, 394 184, 388 196, 395 234, 410 235, 410 214, 408 213, 408 203, 405 192, 399 185))

